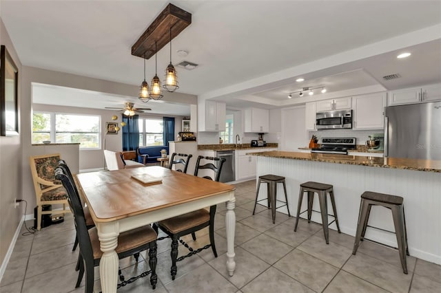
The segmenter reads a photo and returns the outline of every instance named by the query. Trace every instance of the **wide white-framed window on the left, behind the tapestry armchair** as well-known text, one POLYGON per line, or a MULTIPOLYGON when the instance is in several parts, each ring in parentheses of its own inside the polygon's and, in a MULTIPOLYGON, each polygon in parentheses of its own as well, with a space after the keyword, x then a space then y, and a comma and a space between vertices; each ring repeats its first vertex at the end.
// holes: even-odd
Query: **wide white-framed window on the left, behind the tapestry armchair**
POLYGON ((79 142, 80 149, 99 149, 100 117, 92 115, 35 112, 32 117, 32 143, 79 142))

